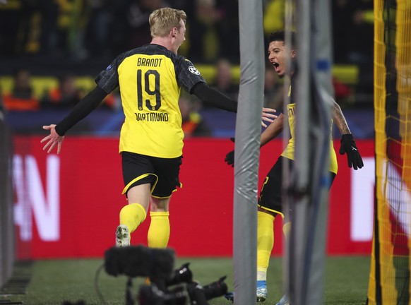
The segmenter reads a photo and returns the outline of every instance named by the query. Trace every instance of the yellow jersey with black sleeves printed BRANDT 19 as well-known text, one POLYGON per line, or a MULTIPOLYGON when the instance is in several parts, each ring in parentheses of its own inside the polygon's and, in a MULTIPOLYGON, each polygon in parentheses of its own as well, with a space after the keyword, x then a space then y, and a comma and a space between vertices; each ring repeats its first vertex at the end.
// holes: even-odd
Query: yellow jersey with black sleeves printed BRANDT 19
POLYGON ((96 78, 107 93, 120 89, 124 110, 119 151, 153 157, 182 155, 179 95, 205 82, 191 61, 157 44, 117 56, 96 78))

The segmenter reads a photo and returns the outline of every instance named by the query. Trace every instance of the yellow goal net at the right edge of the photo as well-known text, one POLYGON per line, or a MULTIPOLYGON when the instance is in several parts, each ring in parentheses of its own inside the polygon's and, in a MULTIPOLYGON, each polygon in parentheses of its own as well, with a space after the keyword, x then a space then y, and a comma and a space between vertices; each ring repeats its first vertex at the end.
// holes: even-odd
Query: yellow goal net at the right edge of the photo
POLYGON ((411 1, 374 0, 376 200, 368 304, 410 304, 411 1))

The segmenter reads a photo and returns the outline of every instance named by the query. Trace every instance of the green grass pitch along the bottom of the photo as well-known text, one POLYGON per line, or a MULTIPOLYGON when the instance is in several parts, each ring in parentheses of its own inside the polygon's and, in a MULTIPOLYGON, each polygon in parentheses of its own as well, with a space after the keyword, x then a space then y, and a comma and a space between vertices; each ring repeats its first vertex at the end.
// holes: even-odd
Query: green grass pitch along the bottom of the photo
MULTIPOLYGON (((104 270, 97 280, 105 303, 95 289, 95 275, 103 264, 102 259, 44 260, 35 261, 31 267, 31 280, 25 294, 0 292, 4 300, 21 301, 25 305, 59 305, 64 301, 75 304, 79 300, 86 305, 125 304, 126 277, 112 277, 104 270)), ((177 258, 175 268, 190 263, 194 280, 208 285, 227 275, 228 289, 233 289, 231 258, 177 258)), ((370 258, 367 256, 328 257, 326 261, 324 304, 365 304, 369 279, 370 258)), ((143 278, 133 279, 133 291, 137 295, 143 278)), ((271 258, 268 268, 268 299, 263 305, 273 305, 282 297, 282 259, 271 258)), ((3 304, 3 303, 1 303, 3 304)), ((186 304, 189 304, 187 301, 186 304)), ((230 305, 223 297, 212 299, 210 305, 230 305)))

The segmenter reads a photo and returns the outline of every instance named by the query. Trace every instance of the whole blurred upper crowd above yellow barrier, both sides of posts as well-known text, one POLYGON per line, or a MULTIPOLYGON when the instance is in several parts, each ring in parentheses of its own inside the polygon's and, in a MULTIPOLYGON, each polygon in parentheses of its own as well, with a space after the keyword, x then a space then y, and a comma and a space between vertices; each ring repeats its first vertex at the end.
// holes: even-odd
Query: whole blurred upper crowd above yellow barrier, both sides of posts
MULTIPOLYGON (((373 1, 332 0, 334 59, 371 60, 373 1)), ((180 52, 194 62, 239 62, 238 0, 8 0, 0 4, 0 56, 112 59, 150 42, 148 16, 170 6, 187 13, 180 52)), ((266 37, 284 28, 285 0, 263 0, 266 37)))

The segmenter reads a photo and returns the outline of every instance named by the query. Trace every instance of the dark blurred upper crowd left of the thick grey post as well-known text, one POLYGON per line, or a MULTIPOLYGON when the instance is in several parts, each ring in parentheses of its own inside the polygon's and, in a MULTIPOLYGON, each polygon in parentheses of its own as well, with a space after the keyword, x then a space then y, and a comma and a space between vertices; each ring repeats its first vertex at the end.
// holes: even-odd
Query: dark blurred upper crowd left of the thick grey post
POLYGON ((185 56, 238 61, 235 0, 8 0, 0 5, 0 55, 112 59, 149 43, 148 16, 165 6, 187 13, 185 56))

